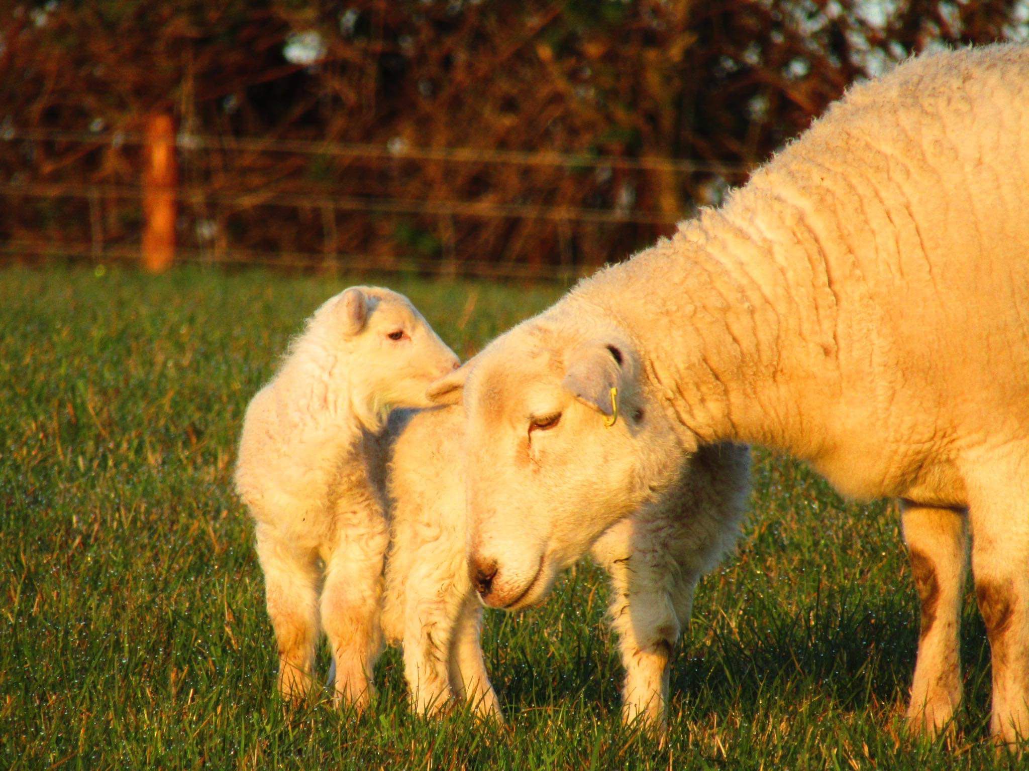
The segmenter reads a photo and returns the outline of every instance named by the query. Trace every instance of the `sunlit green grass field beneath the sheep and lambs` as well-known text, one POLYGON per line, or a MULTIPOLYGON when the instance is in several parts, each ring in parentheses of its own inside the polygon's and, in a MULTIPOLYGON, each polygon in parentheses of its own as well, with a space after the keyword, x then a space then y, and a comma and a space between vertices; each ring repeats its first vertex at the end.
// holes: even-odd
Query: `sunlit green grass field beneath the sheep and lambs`
MULTIPOLYGON (((462 356, 562 291, 383 281, 462 356)), ((0 271, 0 768, 1019 767, 987 741, 971 599, 958 730, 912 739, 917 611, 895 513, 764 452, 739 552, 702 581, 679 646, 664 746, 619 725, 588 565, 541 609, 488 614, 507 729, 409 714, 395 650, 364 715, 284 710, 235 442, 289 336, 347 283, 0 271)))

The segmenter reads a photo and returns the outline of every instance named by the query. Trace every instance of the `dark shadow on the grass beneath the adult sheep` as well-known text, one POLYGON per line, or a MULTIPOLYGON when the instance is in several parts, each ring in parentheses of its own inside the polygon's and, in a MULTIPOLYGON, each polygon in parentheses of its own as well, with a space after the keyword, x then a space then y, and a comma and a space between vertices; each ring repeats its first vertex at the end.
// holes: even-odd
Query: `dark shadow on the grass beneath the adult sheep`
MULTIPOLYGON (((879 587, 875 587, 878 589, 879 587)), ((915 668, 918 618, 903 593, 884 596, 851 591, 821 593, 814 604, 785 613, 760 596, 712 623, 695 618, 672 664, 671 697, 690 709, 747 714, 782 700, 830 702, 845 711, 904 703, 915 668)), ((531 639, 492 652, 491 670, 505 711, 586 701, 616 712, 622 668, 615 640, 579 625, 567 661, 541 656, 531 639)), ((539 634, 541 630, 532 630, 539 634)), ((527 636, 526 634, 519 635, 527 636)), ((965 710, 962 724, 986 726, 989 710, 989 646, 972 605, 962 624, 965 710), (982 720, 981 720, 982 719, 982 720)))

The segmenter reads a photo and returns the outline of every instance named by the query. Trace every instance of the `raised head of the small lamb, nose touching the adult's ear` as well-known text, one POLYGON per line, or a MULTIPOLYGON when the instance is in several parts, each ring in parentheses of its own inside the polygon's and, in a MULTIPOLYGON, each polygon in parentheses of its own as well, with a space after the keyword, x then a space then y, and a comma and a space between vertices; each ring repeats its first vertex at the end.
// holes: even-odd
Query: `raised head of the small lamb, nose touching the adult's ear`
POLYGON ((426 387, 460 364, 411 301, 388 289, 351 287, 318 309, 315 324, 343 355, 341 374, 368 428, 393 407, 430 406, 426 387))

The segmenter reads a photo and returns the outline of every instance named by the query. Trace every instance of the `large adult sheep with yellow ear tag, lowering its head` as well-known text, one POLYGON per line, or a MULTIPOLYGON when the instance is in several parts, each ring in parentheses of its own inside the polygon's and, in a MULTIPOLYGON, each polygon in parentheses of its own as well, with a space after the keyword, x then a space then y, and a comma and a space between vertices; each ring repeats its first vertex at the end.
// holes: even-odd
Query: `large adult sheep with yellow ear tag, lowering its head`
POLYGON ((463 384, 486 602, 537 601, 698 446, 761 444, 900 500, 929 733, 961 696, 970 529, 992 730, 1029 737, 1027 179, 1029 47, 911 61, 436 383, 463 384))

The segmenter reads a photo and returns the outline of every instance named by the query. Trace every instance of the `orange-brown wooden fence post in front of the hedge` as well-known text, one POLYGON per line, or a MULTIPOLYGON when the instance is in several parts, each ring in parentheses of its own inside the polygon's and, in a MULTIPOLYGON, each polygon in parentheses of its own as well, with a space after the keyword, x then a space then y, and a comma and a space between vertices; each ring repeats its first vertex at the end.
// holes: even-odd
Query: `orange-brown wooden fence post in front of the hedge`
POLYGON ((146 122, 146 169, 143 174, 143 267, 159 273, 175 257, 175 123, 158 113, 146 122))

